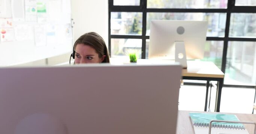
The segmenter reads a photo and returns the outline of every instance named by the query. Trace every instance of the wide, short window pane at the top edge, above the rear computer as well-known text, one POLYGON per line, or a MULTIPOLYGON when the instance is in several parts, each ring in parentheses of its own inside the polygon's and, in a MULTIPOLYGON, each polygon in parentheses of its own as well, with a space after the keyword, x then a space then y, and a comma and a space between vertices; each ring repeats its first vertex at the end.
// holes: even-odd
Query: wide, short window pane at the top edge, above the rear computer
POLYGON ((148 0, 147 8, 226 9, 228 0, 148 0))

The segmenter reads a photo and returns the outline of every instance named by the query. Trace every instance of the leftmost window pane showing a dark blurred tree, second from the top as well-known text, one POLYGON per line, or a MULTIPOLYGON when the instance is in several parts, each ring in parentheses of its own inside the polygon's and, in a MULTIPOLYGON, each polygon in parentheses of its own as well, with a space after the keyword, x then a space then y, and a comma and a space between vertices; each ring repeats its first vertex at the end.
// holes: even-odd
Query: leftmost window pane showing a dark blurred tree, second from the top
POLYGON ((141 12, 111 12, 112 35, 141 35, 141 12))

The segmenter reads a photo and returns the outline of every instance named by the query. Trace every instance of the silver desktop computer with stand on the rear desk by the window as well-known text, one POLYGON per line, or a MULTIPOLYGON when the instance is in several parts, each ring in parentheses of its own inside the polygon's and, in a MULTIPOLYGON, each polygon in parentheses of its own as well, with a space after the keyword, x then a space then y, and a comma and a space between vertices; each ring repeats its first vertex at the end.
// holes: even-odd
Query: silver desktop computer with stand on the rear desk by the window
POLYGON ((149 59, 175 60, 187 68, 187 59, 204 58, 207 21, 151 20, 149 59))

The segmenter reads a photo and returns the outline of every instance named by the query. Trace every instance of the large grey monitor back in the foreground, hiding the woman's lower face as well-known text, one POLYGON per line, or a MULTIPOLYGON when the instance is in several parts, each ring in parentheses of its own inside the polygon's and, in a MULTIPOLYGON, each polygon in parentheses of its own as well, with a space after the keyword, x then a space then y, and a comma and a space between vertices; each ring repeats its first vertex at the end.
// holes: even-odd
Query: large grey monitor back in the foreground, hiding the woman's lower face
POLYGON ((181 66, 0 68, 1 134, 174 134, 181 66))

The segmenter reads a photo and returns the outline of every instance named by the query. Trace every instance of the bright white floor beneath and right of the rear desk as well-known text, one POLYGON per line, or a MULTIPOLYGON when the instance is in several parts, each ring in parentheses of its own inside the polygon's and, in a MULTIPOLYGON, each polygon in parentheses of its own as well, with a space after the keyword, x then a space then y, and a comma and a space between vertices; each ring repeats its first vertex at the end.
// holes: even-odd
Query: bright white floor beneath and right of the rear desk
MULTIPOLYGON (((215 105, 216 89, 212 89, 210 108, 215 105)), ((179 110, 204 111, 205 93, 205 86, 181 86, 179 110)), ((255 89, 253 88, 223 87, 220 112, 252 114, 254 95, 255 89)))

